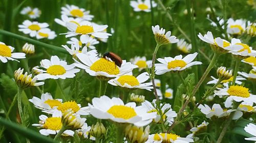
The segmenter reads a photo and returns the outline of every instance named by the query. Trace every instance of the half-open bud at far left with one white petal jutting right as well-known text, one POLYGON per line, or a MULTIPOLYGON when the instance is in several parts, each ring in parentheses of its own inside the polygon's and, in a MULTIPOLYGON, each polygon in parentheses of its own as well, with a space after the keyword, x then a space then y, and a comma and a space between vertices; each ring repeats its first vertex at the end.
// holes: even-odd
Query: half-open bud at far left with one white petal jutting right
POLYGON ((24 69, 19 68, 14 72, 14 79, 19 88, 26 89, 45 84, 45 82, 36 82, 36 77, 32 78, 32 74, 28 75, 27 72, 23 74, 23 71, 24 69))

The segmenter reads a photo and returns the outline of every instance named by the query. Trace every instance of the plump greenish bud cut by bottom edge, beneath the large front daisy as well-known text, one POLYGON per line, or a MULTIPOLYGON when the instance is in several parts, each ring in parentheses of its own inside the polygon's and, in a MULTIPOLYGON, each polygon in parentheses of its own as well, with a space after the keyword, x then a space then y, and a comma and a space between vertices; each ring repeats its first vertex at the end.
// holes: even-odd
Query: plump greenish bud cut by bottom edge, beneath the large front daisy
POLYGON ((131 143, 143 143, 148 139, 148 134, 150 132, 150 126, 146 126, 143 131, 143 127, 136 127, 133 125, 128 125, 125 128, 125 137, 131 143))

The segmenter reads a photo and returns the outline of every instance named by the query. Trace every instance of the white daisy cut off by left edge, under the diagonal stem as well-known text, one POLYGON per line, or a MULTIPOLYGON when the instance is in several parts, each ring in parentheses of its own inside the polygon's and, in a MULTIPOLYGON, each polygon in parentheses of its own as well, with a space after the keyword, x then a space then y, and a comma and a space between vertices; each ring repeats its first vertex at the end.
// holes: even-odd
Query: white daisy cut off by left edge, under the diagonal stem
POLYGON ((26 58, 25 53, 23 53, 23 52, 12 53, 13 50, 14 50, 14 47, 7 46, 7 45, 5 45, 5 43, 0 42, 0 61, 3 63, 7 63, 8 60, 19 62, 16 59, 25 59, 26 58))

